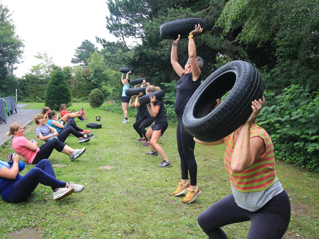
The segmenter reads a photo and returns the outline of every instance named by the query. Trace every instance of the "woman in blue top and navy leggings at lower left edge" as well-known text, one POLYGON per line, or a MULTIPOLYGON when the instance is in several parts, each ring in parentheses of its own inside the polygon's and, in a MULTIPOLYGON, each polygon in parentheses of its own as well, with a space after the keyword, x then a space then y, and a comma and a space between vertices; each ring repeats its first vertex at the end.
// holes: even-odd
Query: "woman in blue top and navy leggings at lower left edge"
POLYGON ((19 174, 20 155, 14 154, 11 159, 10 154, 8 160, 9 162, 13 161, 12 168, 7 162, 0 160, 0 194, 5 202, 25 201, 39 183, 52 188, 53 200, 55 201, 69 196, 72 192, 82 192, 84 189, 83 185, 57 180, 48 159, 41 160, 24 176, 19 174))

